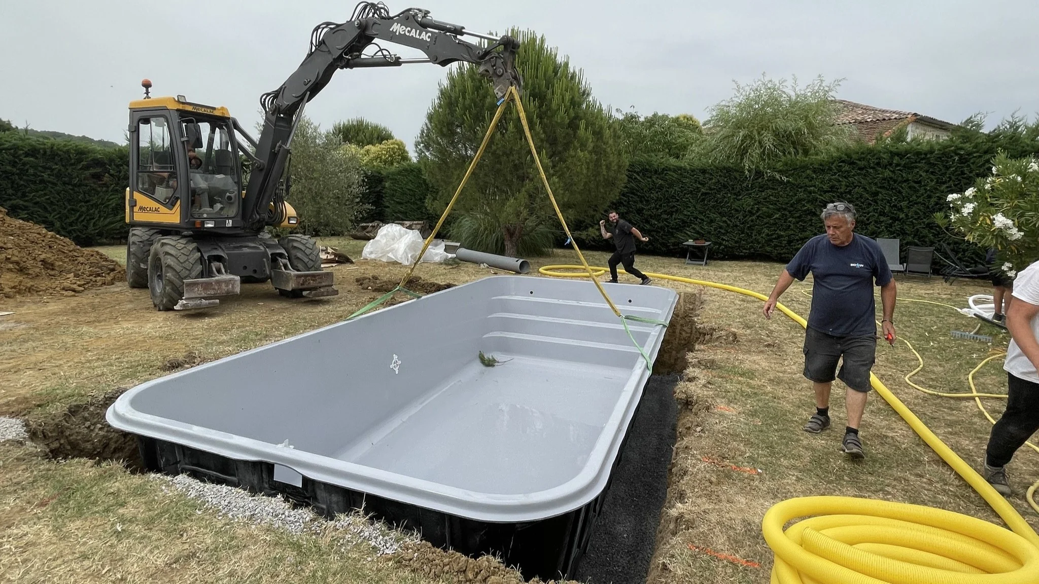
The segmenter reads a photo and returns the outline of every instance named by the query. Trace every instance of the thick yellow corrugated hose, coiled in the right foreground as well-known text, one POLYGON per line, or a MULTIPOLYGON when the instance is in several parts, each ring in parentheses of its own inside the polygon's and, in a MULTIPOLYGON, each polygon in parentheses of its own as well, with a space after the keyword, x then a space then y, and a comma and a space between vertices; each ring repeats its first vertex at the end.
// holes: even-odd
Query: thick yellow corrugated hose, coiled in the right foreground
MULTIPOLYGON (((587 266, 544 266, 557 277, 586 274, 587 266)), ((606 268, 593 267, 597 275, 606 268)), ((757 292, 663 273, 646 275, 752 296, 757 292)), ((807 322, 783 304, 776 308, 800 324, 807 322)), ((979 366, 980 367, 980 366, 979 366)), ((977 369, 976 369, 977 371, 977 369)), ((772 506, 762 532, 775 554, 774 584, 1037 584, 1039 535, 985 479, 942 443, 876 375, 870 382, 1010 528, 933 507, 853 497, 800 497, 772 506), (799 517, 785 531, 783 526, 799 517)), ((971 372, 971 391, 974 390, 971 372)))

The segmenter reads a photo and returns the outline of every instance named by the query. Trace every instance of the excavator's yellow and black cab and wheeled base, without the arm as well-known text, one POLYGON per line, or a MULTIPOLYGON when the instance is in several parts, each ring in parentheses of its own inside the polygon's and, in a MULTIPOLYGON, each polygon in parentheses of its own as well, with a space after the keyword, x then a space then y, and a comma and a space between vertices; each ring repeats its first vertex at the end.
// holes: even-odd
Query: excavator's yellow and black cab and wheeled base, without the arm
POLYGON ((130 103, 128 284, 149 288, 159 310, 214 307, 243 282, 271 281, 290 297, 337 294, 312 238, 267 234, 298 223, 284 196, 269 205, 271 220, 245 224, 241 159, 250 153, 227 108, 152 98, 142 85, 145 98, 130 103))

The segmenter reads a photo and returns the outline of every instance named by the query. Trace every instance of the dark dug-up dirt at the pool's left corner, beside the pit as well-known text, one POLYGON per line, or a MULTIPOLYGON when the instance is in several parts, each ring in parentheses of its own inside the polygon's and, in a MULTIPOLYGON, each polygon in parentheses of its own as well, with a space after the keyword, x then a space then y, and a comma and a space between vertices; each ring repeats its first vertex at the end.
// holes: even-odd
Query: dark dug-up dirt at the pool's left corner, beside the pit
POLYGON ((105 421, 105 412, 127 388, 95 395, 64 410, 39 414, 25 420, 29 440, 55 458, 126 460, 139 467, 137 440, 105 421))

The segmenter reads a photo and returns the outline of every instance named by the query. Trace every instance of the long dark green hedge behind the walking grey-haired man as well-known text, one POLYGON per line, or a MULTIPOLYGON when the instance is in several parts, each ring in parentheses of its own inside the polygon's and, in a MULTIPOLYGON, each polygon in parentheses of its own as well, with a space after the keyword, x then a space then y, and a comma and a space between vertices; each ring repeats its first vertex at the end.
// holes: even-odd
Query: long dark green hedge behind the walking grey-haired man
MULTIPOLYGON (((707 239, 714 242, 713 258, 784 262, 823 233, 819 213, 827 203, 847 201, 858 212, 858 233, 898 238, 903 250, 928 245, 940 251, 939 244, 948 243, 973 262, 981 250, 944 233, 934 214, 948 210, 949 193, 989 171, 997 149, 1028 156, 1039 153, 1039 143, 976 137, 863 145, 752 178, 736 167, 639 159, 629 166, 615 208, 650 238, 640 244, 645 253, 682 256, 684 241, 707 239)), ((584 230, 578 242, 604 248, 597 231, 597 225, 584 230)))

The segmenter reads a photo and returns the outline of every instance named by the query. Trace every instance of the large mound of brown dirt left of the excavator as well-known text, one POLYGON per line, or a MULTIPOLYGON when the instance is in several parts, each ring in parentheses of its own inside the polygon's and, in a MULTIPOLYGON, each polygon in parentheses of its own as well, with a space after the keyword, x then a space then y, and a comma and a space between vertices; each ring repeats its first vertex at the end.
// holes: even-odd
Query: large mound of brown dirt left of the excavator
POLYGON ((114 260, 28 221, 0 207, 0 297, 72 295, 126 277, 114 260))

